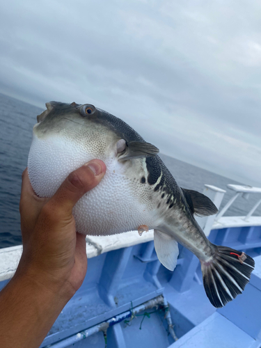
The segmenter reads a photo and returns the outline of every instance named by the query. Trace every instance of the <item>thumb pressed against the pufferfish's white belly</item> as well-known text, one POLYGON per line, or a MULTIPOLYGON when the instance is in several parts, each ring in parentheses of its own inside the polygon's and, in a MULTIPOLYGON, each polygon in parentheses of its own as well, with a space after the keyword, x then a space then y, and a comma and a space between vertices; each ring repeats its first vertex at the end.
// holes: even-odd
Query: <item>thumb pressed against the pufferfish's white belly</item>
POLYGON ((72 208, 84 193, 93 189, 104 177, 106 165, 100 159, 93 159, 68 175, 47 205, 66 218, 72 214, 72 208))

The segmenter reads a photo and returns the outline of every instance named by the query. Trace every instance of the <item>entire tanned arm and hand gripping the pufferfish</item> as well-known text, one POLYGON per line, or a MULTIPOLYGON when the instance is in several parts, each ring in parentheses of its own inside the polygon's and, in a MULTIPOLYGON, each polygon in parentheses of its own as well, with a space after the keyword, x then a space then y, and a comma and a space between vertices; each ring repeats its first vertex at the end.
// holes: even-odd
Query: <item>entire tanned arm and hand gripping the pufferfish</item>
POLYGON ((39 347, 84 281, 86 242, 75 230, 72 208, 105 171, 102 161, 90 161, 72 172, 52 198, 36 196, 24 171, 23 253, 15 276, 0 292, 0 347, 39 347))

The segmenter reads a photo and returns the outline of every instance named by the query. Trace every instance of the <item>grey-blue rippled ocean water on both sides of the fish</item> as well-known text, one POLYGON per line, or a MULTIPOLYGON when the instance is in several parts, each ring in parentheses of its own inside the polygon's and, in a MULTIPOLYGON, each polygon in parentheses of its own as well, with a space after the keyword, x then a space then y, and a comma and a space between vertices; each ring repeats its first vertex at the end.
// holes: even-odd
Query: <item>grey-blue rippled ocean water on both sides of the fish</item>
MULTIPOLYGON (((21 175, 26 168, 33 125, 43 109, 44 105, 40 109, 0 93, 0 248, 22 244, 19 221, 21 175)), ((203 192, 204 184, 212 184, 226 189, 221 207, 234 195, 226 185, 240 184, 164 154, 160 156, 180 187, 203 192)), ((252 195, 248 200, 237 198, 226 216, 246 214, 258 199, 260 195, 252 195)), ((261 215, 261 207, 254 215, 261 215)))

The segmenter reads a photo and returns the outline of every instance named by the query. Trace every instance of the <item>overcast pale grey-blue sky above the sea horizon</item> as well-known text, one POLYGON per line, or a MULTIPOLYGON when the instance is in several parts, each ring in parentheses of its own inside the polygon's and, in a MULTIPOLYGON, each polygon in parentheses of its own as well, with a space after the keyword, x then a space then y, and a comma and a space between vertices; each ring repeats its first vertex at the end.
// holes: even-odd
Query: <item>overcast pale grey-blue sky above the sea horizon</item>
POLYGON ((259 0, 10 0, 0 92, 94 104, 170 155, 261 185, 259 0))

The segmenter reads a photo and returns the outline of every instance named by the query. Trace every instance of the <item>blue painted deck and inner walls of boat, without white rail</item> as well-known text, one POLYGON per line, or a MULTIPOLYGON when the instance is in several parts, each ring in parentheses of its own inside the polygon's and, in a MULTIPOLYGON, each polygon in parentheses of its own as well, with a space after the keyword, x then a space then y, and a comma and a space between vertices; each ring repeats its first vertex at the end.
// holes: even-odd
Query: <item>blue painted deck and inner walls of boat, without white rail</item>
MULTIPOLYGON (((212 230, 209 239, 219 244, 239 246, 244 232, 249 244, 241 250, 252 256, 260 253, 261 227, 212 230), (250 234, 250 237, 248 236, 250 234), (247 237, 248 236, 248 237, 247 237), (259 237, 259 240, 258 240, 259 237), (256 242, 257 248, 253 248, 256 242)), ((261 336, 261 257, 255 258, 257 266, 251 283, 244 294, 228 303, 221 310, 214 308, 207 299, 201 282, 198 259, 186 248, 180 247, 180 256, 174 272, 168 271, 156 258, 153 242, 110 251, 91 258, 84 284, 65 306, 41 347, 260 347, 261 336), (163 294, 175 334, 173 340, 162 306, 143 310, 134 318, 127 317, 106 331, 65 345, 65 338, 76 336, 88 328, 129 311, 163 294), (104 333, 106 335, 104 336, 104 333), (55 342, 60 343, 55 344, 55 342), (91 343, 93 342, 93 343, 91 343), (197 342, 197 343, 195 343, 197 342), (199 343, 201 342, 201 343, 199 343), (216 343, 214 343, 216 342, 216 343), (203 344, 204 343, 204 344, 203 344), (254 344, 257 344, 256 346, 254 344), (196 346, 195 346, 196 344, 196 346)), ((86 330, 88 333, 88 330, 86 330)))

